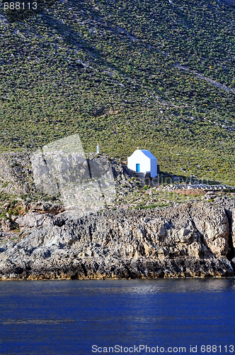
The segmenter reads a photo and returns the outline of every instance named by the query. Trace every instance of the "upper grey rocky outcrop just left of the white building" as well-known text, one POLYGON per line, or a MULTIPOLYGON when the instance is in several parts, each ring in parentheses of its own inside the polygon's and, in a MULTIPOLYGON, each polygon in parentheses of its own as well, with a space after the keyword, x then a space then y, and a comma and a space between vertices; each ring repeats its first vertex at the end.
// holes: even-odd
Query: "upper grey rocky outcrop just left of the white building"
MULTIPOLYGON (((71 143, 71 136, 67 140, 71 143)), ((125 195, 139 185, 131 178, 133 174, 125 165, 103 154, 50 151, 48 147, 34 153, 0 154, 0 194, 28 194, 29 200, 58 197, 68 208, 81 205, 81 200, 84 205, 95 200, 97 206, 101 200, 103 207, 115 199, 115 187, 125 195)))

